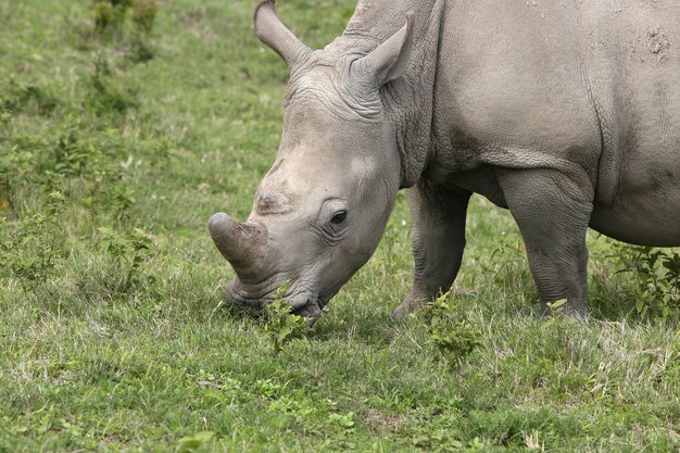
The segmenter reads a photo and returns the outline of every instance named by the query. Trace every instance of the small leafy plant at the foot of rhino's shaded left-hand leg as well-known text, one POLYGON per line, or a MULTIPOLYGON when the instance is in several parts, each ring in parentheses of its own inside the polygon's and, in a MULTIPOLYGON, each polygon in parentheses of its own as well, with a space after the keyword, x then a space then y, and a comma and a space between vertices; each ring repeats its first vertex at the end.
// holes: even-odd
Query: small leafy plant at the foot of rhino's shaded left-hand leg
POLYGON ((462 370, 465 360, 481 344, 481 331, 470 323, 450 292, 425 305, 415 316, 425 324, 427 342, 453 370, 462 370))

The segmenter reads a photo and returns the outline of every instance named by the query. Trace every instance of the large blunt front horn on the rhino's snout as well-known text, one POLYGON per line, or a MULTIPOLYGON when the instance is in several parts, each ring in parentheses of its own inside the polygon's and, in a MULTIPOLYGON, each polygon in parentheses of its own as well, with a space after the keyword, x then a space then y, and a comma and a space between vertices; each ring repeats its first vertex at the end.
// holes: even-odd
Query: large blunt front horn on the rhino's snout
POLYGON ((218 213, 210 218, 207 229, 217 250, 239 277, 256 270, 267 242, 264 225, 259 222, 240 223, 225 213, 218 213))

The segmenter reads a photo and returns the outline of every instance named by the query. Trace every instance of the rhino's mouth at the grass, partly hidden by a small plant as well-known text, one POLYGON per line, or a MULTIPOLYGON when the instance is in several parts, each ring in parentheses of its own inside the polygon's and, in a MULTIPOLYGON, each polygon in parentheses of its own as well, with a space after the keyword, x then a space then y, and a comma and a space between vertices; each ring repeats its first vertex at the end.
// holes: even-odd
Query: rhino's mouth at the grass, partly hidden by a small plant
MULTIPOLYGON (((232 306, 254 317, 263 316, 264 307, 275 301, 272 295, 260 298, 244 295, 234 284, 225 288, 225 295, 232 306)), ((284 297, 284 300, 292 305, 292 313, 308 318, 311 324, 316 323, 322 316, 322 310, 328 303, 328 299, 314 295, 310 291, 291 292, 284 297)))

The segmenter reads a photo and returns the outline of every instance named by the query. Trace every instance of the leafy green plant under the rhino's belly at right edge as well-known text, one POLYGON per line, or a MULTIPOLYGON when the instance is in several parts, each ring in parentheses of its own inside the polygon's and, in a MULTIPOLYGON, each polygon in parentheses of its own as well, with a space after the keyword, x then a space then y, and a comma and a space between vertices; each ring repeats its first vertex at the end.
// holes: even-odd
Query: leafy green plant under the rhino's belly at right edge
POLYGON ((619 273, 630 273, 639 281, 628 298, 635 312, 648 318, 680 319, 680 254, 651 247, 618 247, 624 265, 619 273))

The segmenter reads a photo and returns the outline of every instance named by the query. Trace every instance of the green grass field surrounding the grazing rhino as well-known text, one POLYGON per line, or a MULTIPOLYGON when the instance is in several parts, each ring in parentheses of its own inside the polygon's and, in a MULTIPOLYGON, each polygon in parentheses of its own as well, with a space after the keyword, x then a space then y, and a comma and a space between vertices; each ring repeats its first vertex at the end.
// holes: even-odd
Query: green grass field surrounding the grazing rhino
MULTIPOLYGON (((316 48, 354 7, 279 3, 316 48)), ((457 367, 389 317, 402 196, 279 354, 223 305, 206 222, 250 212, 287 78, 254 5, 165 0, 96 32, 86 1, 0 0, 0 452, 680 452, 677 317, 635 309, 632 252, 592 231, 592 318, 541 318, 511 216, 474 199, 454 303, 480 341, 457 367)))

